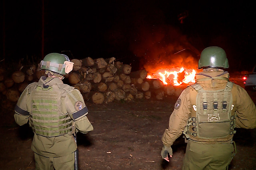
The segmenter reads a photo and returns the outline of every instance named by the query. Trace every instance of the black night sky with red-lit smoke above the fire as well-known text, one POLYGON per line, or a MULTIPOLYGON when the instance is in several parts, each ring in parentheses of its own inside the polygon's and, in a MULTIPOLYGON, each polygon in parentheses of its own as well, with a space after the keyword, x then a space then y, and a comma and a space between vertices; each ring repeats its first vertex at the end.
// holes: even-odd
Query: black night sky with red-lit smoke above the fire
MULTIPOLYGON (((6 61, 41 60, 42 1, 1 3, 6 61)), ((77 59, 116 57, 139 68, 167 55, 175 62, 173 54, 182 49, 198 61, 205 47, 219 46, 230 69, 250 70, 256 64, 255 17, 254 6, 246 1, 44 0, 44 55, 71 51, 77 59), (184 12, 188 15, 180 23, 178 15, 184 12)))

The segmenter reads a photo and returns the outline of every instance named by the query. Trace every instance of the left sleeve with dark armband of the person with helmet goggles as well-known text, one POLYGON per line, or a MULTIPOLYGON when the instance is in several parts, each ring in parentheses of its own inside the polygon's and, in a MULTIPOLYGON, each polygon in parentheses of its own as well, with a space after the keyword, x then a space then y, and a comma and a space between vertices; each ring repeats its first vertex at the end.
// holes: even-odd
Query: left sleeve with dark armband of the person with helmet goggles
POLYGON ((26 87, 26 89, 22 92, 22 94, 20 95, 20 98, 18 99, 18 102, 14 108, 14 119, 15 122, 18 125, 24 125, 26 123, 28 123, 28 117, 29 117, 29 112, 27 109, 27 98, 28 98, 28 89, 30 88, 30 86, 26 87))

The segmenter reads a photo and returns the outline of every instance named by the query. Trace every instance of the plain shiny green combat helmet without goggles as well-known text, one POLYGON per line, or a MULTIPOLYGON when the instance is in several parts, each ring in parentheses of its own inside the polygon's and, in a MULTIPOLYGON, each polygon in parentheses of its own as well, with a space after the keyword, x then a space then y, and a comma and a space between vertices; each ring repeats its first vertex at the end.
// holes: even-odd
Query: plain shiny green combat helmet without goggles
POLYGON ((201 53, 198 61, 198 68, 228 68, 228 59, 224 49, 220 47, 207 47, 201 53))

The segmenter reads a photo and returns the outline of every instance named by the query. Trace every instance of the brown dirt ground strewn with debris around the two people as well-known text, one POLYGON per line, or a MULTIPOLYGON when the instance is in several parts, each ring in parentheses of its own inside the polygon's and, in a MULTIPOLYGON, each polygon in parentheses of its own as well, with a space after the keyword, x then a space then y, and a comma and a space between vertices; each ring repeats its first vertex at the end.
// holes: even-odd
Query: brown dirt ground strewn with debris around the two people
MULTIPOLYGON (((240 76, 230 80, 243 87, 240 76)), ((256 92, 248 91, 254 103, 256 92)), ((78 133, 80 170, 180 170, 186 143, 182 137, 173 145, 170 162, 162 160, 161 137, 168 127, 168 120, 175 96, 164 100, 134 100, 95 105, 87 103, 88 119, 94 131, 78 133)), ((1 98, 2 123, 0 125, 0 169, 34 170, 35 161, 31 147, 33 133, 28 125, 19 127, 14 121, 14 105, 1 98)), ((237 154, 229 169, 256 169, 256 129, 236 129, 234 141, 237 154)))

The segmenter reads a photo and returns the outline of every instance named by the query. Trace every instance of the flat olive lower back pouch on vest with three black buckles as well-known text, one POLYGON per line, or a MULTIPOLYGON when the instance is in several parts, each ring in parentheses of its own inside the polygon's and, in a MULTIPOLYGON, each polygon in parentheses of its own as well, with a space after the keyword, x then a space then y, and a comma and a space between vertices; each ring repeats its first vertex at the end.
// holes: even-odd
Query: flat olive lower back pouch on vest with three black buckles
POLYGON ((219 138, 230 135, 230 121, 198 123, 198 136, 202 138, 219 138))

